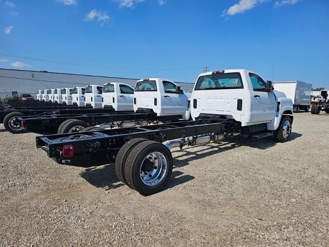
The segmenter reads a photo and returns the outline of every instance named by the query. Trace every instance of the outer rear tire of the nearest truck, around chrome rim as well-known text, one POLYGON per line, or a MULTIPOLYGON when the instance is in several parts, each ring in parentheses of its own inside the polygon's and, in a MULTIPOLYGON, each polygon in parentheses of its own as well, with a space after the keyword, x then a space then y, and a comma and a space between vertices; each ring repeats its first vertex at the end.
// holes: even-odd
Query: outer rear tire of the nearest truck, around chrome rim
MULTIPOLYGON (((157 164, 158 166, 160 166, 159 159, 154 158, 153 161, 155 160, 158 160, 157 164)), ((171 176, 172 169, 173 158, 170 150, 161 143, 147 140, 145 142, 137 144, 128 154, 124 174, 127 183, 132 189, 135 189, 143 196, 149 196, 160 191, 163 187, 167 185, 171 176), (147 160, 148 156, 151 156, 151 154, 153 153, 160 154, 161 157, 163 157, 162 161, 166 160, 166 169, 159 169, 159 167, 154 166, 155 163, 152 163, 150 161, 151 159, 147 160), (153 174, 153 177, 151 173, 149 173, 149 175, 145 175, 148 174, 148 172, 143 168, 145 164, 144 162, 149 163, 153 171, 157 170, 156 172, 160 172, 160 174, 158 175, 160 175, 161 178, 155 185, 147 185, 141 179, 141 174, 143 174, 145 178, 158 178, 158 175, 156 174, 153 174), (141 173, 143 169, 145 172, 141 173)))

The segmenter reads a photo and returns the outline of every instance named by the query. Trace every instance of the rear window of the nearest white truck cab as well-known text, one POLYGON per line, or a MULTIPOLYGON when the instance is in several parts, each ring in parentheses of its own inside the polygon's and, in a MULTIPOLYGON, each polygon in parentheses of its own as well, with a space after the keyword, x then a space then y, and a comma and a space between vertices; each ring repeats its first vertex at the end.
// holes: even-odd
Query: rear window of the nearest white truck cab
POLYGON ((240 73, 200 76, 194 90, 243 89, 240 73))

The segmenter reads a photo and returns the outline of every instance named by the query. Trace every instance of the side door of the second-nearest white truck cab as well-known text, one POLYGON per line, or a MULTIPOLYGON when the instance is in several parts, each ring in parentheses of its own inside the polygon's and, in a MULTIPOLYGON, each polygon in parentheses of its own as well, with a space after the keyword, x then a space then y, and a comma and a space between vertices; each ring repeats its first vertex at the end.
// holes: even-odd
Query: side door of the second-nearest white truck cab
POLYGON ((187 96, 176 94, 177 85, 170 81, 162 81, 164 94, 161 108, 166 115, 181 115, 186 111, 187 96))

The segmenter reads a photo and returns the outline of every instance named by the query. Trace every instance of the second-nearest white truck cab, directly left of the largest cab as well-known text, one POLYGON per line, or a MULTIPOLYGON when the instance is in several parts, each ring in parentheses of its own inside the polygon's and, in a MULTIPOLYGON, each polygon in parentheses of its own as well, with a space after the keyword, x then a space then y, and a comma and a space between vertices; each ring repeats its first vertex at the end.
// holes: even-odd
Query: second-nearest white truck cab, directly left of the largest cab
POLYGON ((158 116, 181 115, 182 119, 190 117, 187 95, 174 82, 160 78, 137 81, 134 111, 153 111, 158 116))

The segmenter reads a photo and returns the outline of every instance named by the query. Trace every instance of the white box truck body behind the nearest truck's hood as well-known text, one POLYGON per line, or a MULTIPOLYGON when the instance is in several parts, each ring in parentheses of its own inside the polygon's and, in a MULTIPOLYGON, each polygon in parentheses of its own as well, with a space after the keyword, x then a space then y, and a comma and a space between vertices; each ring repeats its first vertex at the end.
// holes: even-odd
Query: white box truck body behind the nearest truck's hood
POLYGON ((312 84, 303 81, 276 81, 274 87, 293 100, 295 112, 309 111, 312 84))

